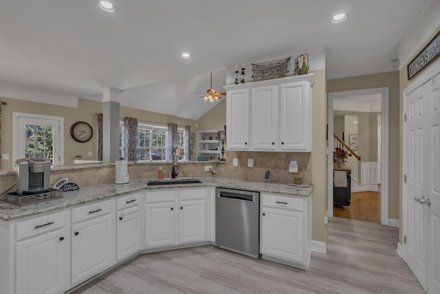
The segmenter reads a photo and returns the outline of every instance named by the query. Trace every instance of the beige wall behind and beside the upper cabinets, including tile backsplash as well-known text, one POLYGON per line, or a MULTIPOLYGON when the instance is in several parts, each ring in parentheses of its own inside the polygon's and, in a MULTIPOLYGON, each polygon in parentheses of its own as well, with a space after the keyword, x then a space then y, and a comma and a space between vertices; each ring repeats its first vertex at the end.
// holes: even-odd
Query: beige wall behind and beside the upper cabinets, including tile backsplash
MULTIPOLYGON (((270 169, 277 182, 293 182, 294 176, 303 177, 304 182, 314 184, 312 198, 312 239, 325 242, 324 217, 327 209, 327 162, 325 149, 327 146, 327 99, 325 94, 325 70, 313 72, 315 85, 312 98, 312 152, 232 152, 226 151, 225 166, 221 166, 223 176, 234 176, 244 180, 263 180, 264 171, 270 169), (239 158, 238 169, 232 167, 232 158, 239 158), (247 158, 254 158, 255 168, 245 167, 247 158), (298 174, 289 174, 288 162, 297 160, 298 174)), ((197 120, 197 130, 221 129, 226 124, 226 103, 222 101, 207 114, 197 120)), ((228 132, 228 129, 226 129, 228 132)))

